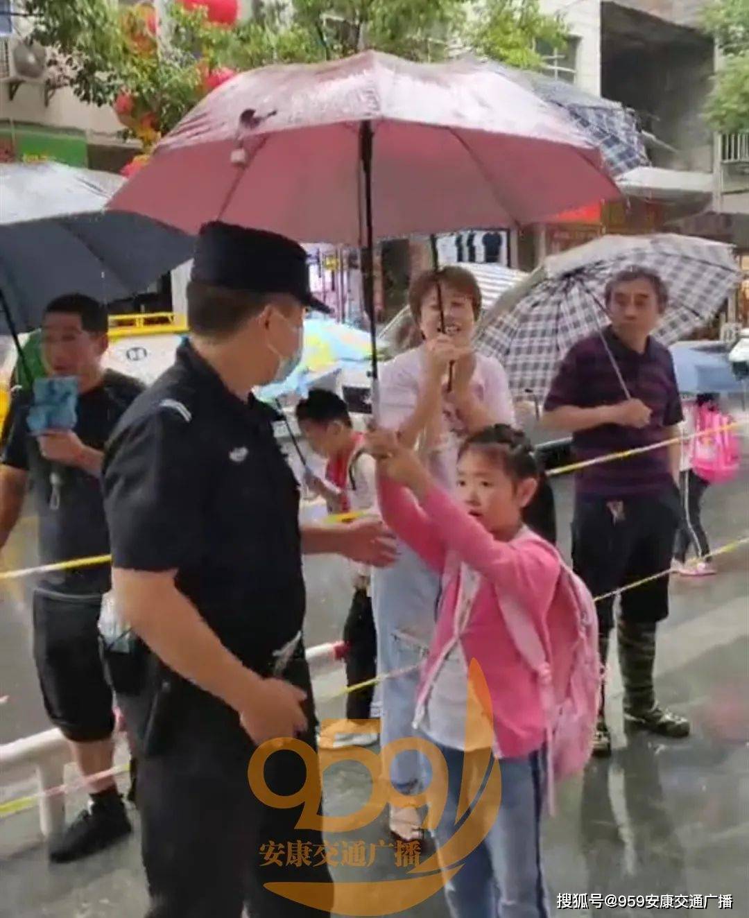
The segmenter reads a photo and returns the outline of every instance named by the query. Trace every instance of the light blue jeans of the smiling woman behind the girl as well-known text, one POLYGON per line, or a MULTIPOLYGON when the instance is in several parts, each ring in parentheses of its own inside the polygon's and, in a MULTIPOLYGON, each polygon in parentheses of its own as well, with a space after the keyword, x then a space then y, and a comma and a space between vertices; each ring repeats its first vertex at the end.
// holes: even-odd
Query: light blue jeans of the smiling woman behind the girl
MULTIPOLYGON (((427 567, 403 543, 398 543, 395 565, 375 570, 372 577, 372 607, 377 632, 377 671, 390 673, 422 661, 434 632, 440 576, 427 567), (411 639, 408 639, 408 636, 411 639), (414 640, 413 638, 416 638, 414 640), (420 645, 420 646, 419 646, 420 645)), ((419 671, 386 679, 380 683, 383 746, 414 735, 419 671)), ((419 753, 406 751, 393 760, 390 778, 400 793, 419 788, 421 769, 427 765, 419 753)))

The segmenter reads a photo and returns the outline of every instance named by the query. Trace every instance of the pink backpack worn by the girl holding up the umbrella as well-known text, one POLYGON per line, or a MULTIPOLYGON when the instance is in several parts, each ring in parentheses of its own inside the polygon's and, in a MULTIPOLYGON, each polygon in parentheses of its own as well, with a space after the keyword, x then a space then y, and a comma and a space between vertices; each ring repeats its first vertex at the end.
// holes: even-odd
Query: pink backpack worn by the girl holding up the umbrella
POLYGON ((562 565, 548 623, 548 653, 531 619, 497 591, 499 608, 520 655, 536 673, 546 715, 549 810, 554 784, 583 770, 590 758, 600 698, 598 616, 587 587, 562 565))

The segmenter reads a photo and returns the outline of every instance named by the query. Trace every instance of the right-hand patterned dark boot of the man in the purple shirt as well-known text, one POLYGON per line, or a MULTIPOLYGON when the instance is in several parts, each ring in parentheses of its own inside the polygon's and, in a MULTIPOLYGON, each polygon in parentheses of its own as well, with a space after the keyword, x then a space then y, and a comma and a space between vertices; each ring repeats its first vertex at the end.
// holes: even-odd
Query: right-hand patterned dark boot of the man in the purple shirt
POLYGON ((655 625, 620 618, 618 640, 625 725, 671 739, 688 736, 687 718, 666 711, 655 700, 655 625))

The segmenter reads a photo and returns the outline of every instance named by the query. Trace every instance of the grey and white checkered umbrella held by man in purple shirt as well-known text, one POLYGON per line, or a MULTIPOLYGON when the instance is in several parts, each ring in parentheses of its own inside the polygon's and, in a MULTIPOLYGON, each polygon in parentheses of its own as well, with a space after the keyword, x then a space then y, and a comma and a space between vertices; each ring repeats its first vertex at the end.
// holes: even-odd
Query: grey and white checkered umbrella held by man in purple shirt
POLYGON ((692 236, 602 236, 547 258, 499 297, 480 321, 476 346, 504 364, 516 395, 544 397, 576 341, 607 324, 604 289, 629 268, 659 274, 668 288, 656 337, 673 344, 706 324, 738 285, 732 247, 692 236))

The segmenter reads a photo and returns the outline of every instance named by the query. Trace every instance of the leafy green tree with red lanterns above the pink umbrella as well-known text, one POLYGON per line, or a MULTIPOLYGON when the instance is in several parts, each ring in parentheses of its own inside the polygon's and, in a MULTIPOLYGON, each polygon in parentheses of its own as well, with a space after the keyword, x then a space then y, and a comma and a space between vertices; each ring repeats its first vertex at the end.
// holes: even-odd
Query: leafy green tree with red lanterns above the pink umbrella
POLYGON ((27 0, 27 11, 32 38, 51 49, 55 82, 85 102, 115 105, 146 151, 216 84, 208 74, 226 68, 331 60, 365 48, 414 61, 473 50, 537 68, 538 42, 565 41, 561 20, 543 15, 538 0, 292 0, 290 8, 265 3, 230 28, 173 2, 160 46, 149 6, 27 0))

